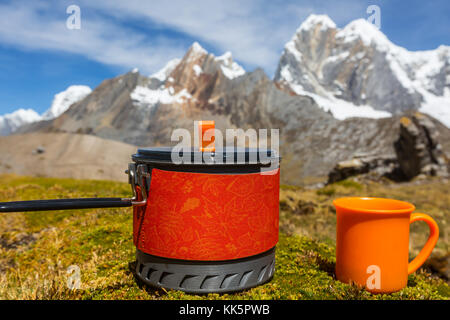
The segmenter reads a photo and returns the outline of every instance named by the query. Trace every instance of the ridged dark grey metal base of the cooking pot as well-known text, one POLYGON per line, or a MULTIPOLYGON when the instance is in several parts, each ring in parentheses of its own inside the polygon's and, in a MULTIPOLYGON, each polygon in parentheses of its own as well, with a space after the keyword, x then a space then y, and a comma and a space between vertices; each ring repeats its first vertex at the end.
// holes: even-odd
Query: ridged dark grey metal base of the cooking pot
POLYGON ((187 261, 136 250, 136 276, 143 283, 188 293, 234 292, 272 279, 275 248, 256 256, 228 261, 187 261))

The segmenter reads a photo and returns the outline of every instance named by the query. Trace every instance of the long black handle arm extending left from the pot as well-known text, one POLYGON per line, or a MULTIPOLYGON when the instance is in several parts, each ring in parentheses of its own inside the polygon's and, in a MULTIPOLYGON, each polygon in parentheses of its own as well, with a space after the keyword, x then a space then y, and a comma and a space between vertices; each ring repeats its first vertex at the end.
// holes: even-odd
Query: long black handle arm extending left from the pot
POLYGON ((132 199, 81 198, 0 202, 0 212, 131 207, 132 199))

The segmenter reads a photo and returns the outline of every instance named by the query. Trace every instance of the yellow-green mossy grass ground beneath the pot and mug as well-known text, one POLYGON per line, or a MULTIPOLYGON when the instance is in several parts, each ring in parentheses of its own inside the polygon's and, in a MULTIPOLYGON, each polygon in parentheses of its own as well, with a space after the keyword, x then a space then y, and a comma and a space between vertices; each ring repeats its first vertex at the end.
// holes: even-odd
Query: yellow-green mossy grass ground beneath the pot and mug
MULTIPOLYGON (((130 271, 134 246, 129 208, 1 213, 0 299, 449 299, 447 283, 424 271, 411 275, 407 288, 390 295, 372 295, 335 280, 331 200, 346 192, 363 193, 366 188, 354 182, 327 187, 325 192, 282 187, 282 232, 273 280, 223 295, 141 288, 130 271), (311 207, 302 214, 304 208, 311 207), (81 270, 80 290, 67 289, 67 268, 71 265, 81 270)), ((442 186, 436 188, 441 190, 442 186)), ((109 181, 11 175, 0 180, 0 201, 129 193, 127 184, 109 181)), ((447 213, 440 223, 447 221, 447 213)), ((445 251, 447 243, 443 242, 440 248, 445 251)))

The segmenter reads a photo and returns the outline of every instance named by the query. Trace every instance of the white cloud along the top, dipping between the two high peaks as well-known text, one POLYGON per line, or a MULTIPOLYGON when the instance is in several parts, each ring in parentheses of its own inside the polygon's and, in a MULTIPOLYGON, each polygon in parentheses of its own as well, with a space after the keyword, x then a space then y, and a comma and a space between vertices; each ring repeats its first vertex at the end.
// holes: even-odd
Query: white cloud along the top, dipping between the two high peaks
POLYGON ((327 12, 339 24, 365 14, 358 1, 345 4, 317 1, 259 0, 100 0, 83 5, 107 11, 118 18, 147 18, 215 46, 232 51, 244 64, 262 66, 272 73, 284 44, 313 12, 327 12))

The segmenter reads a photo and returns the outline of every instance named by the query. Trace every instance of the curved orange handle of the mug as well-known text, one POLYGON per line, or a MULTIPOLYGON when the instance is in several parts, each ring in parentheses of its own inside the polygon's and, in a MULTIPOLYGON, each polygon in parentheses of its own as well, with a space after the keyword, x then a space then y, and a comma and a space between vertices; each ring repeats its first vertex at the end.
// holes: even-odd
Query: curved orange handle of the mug
POLYGON ((428 240, 425 243, 425 246, 419 252, 417 257, 415 257, 408 264, 408 274, 411 274, 417 269, 419 269, 419 267, 428 259, 428 257, 431 254, 431 251, 433 251, 433 248, 436 245, 436 242, 439 238, 439 227, 436 221, 434 221, 433 218, 431 218, 429 215, 425 213, 413 213, 411 214, 409 223, 411 224, 414 221, 425 221, 428 224, 428 227, 430 228, 430 235, 428 236, 428 240))

